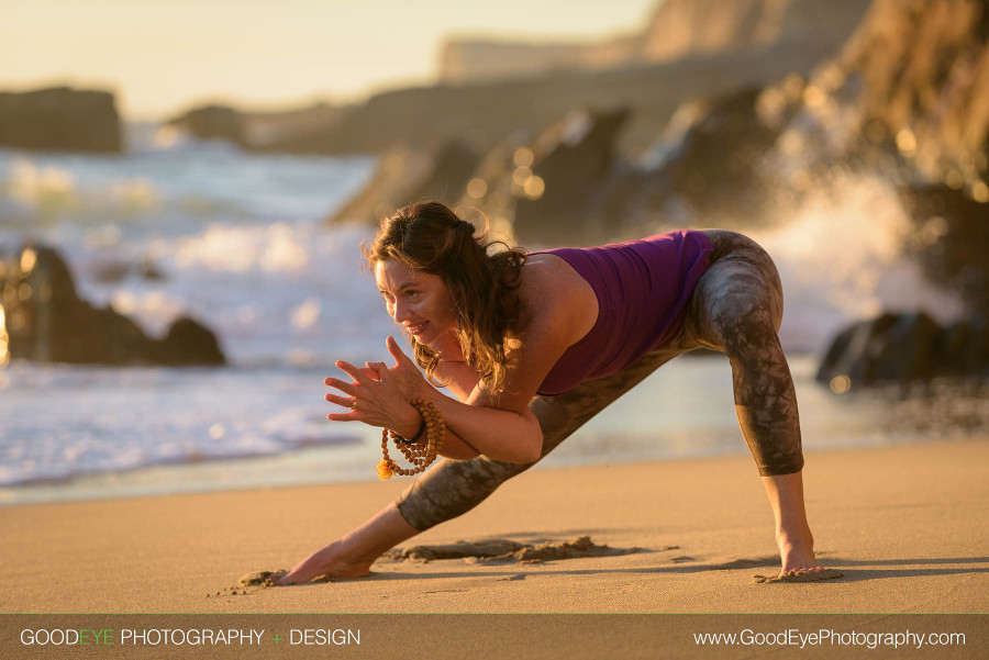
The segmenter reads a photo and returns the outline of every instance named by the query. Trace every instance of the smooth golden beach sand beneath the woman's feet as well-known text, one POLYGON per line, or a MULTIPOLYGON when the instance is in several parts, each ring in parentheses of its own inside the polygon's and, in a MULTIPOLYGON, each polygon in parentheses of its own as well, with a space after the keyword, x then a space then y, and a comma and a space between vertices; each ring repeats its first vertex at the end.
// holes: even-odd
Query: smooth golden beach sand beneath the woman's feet
POLYGON ((986 611, 989 438, 807 459, 819 561, 837 579, 754 582, 778 559, 740 456, 530 471, 369 578, 287 588, 238 580, 292 566, 408 480, 2 507, 0 611, 986 611))

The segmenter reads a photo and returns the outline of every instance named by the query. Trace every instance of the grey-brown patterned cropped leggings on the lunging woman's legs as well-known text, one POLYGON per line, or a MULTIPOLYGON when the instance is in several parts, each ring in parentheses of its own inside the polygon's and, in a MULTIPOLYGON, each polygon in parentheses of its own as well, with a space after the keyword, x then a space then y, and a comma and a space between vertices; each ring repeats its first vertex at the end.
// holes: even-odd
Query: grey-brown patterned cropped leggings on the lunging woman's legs
MULTIPOLYGON (((709 230, 714 251, 688 302, 679 335, 622 371, 586 381, 557 396, 535 396, 530 407, 543 429, 546 456, 585 422, 645 379, 657 367, 705 347, 723 351, 732 366, 735 410, 759 473, 791 474, 803 468, 797 395, 776 336, 782 288, 769 255, 734 232, 709 230)), ((424 532, 462 515, 507 479, 535 463, 479 456, 443 460, 396 501, 402 517, 424 532)))

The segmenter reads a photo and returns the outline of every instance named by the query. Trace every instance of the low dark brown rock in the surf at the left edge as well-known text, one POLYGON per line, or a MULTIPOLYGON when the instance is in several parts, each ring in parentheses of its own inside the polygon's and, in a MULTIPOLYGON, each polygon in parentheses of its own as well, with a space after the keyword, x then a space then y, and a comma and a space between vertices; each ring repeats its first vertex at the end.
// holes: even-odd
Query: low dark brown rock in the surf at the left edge
MULTIPOLYGON (((216 337, 191 318, 153 339, 112 307, 78 298, 58 253, 27 245, 0 260, 0 316, 7 342, 0 361, 90 365, 223 365, 216 337)), ((2 334, 2 333, 0 333, 2 334)))

